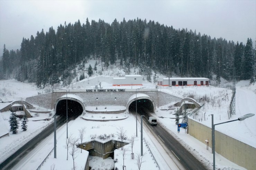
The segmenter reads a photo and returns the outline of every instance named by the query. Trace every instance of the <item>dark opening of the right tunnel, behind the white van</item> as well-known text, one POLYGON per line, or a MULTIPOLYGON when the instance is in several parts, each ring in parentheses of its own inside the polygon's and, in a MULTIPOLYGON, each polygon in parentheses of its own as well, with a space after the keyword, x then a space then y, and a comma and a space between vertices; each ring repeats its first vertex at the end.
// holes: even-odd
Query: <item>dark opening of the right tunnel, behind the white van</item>
MULTIPOLYGON (((130 104, 129 112, 136 112, 136 100, 130 104)), ((152 101, 148 99, 137 100, 137 113, 148 117, 148 112, 154 112, 152 101)))

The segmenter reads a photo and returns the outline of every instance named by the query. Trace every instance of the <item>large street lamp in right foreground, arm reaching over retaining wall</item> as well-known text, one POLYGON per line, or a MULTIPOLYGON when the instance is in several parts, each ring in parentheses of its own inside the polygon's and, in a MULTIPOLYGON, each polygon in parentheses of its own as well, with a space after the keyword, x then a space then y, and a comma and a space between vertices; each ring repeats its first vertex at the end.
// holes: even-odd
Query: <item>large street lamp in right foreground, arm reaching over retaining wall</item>
MULTIPOLYGON (((211 114, 212 116, 212 153, 213 153, 213 170, 215 170, 215 126, 218 125, 218 124, 223 124, 223 123, 228 123, 228 122, 234 122, 234 121, 242 121, 242 120, 245 120, 246 118, 249 118, 249 117, 252 117, 254 116, 255 114, 253 113, 248 113, 248 114, 245 114, 244 116, 241 116, 239 117, 238 119, 236 120, 230 120, 230 121, 227 121, 227 122, 222 122, 222 123, 217 123, 217 124, 213 124, 213 114, 211 114)), ((210 116, 210 115, 209 115, 210 116)))

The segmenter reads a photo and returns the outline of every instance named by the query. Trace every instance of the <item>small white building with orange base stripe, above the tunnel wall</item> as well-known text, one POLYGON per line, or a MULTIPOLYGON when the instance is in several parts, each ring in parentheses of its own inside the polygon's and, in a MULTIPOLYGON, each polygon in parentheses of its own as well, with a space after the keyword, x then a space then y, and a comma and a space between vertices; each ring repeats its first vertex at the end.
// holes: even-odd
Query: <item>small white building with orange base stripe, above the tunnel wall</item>
POLYGON ((113 86, 142 86, 142 76, 125 75, 125 77, 113 77, 113 86))

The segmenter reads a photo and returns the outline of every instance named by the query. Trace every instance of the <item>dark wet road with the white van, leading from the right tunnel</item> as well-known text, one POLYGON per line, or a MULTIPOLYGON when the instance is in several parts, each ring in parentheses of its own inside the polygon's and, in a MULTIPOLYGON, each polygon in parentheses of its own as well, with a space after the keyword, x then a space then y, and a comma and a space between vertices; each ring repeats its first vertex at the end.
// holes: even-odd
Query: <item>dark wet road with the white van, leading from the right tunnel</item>
POLYGON ((176 164, 180 167, 180 169, 206 170, 200 161, 198 161, 189 151, 187 151, 173 136, 171 136, 170 133, 159 126, 159 124, 157 126, 150 126, 147 121, 148 114, 145 112, 143 114, 145 115, 143 124, 145 124, 147 128, 151 129, 151 132, 154 133, 156 138, 162 141, 161 145, 164 145, 163 147, 168 149, 168 155, 172 158, 176 157, 177 160, 179 160, 183 168, 181 168, 178 163, 176 164))

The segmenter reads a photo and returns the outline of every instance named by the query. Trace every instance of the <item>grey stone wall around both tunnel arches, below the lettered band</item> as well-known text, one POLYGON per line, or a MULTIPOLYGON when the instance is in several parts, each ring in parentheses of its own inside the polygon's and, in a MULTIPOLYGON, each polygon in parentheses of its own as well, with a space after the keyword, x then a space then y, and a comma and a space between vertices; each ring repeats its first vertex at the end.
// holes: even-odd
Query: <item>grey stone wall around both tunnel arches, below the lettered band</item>
MULTIPOLYGON (((108 106, 108 105, 116 105, 116 106, 126 106, 128 99, 136 94, 135 89, 126 89, 126 90, 134 90, 134 91, 120 91, 120 92, 77 92, 79 89, 70 89, 68 94, 75 94, 83 99, 85 106, 108 106), (73 92, 72 92, 73 91, 73 92), (98 98, 98 101, 96 100, 98 98), (115 100, 115 98, 117 100, 115 100)), ((163 106, 170 102, 178 102, 181 98, 173 96, 171 94, 167 94, 161 91, 147 91, 139 90, 138 93, 147 94, 150 98, 152 98, 155 102, 156 107, 163 106)), ((155 89, 154 89, 155 90, 155 89)), ((157 89, 156 89, 157 90, 157 89)), ((35 104, 40 107, 44 107, 47 109, 54 109, 55 102, 58 98, 65 95, 66 92, 52 92, 46 94, 40 94, 38 96, 28 97, 26 98, 26 102, 30 104, 35 104)))

